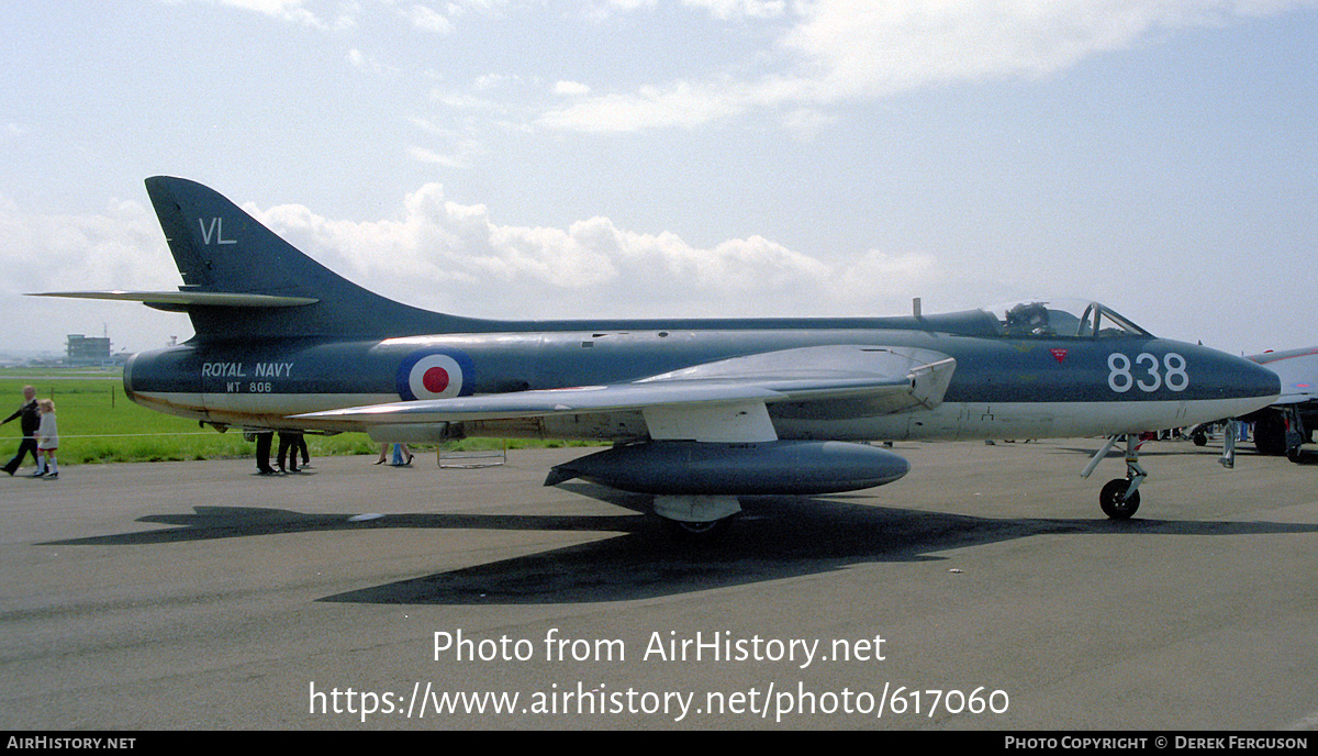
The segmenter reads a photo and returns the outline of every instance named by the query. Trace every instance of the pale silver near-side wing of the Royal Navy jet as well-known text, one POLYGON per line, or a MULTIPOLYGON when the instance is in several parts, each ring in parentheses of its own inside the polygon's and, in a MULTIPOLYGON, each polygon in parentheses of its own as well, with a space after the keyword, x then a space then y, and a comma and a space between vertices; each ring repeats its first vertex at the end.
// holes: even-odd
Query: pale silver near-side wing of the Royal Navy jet
POLYGON ((641 412, 651 438, 778 438, 771 404, 846 401, 859 416, 934 408, 956 360, 931 350, 824 346, 718 360, 634 383, 401 401, 295 416, 381 434, 380 426, 641 412))

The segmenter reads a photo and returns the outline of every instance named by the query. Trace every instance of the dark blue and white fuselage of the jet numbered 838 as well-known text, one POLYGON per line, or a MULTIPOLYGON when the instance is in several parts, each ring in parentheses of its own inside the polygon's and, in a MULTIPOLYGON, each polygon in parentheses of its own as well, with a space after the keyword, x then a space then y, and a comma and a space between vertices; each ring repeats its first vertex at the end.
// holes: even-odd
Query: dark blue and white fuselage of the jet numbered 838
MULTIPOLYGON (((963 314, 941 322, 536 323, 542 330, 496 330, 505 323, 490 323, 490 330, 477 332, 387 339, 206 339, 137 355, 125 371, 124 385, 134 400, 166 412, 216 424, 279 427, 290 425, 286 416, 306 412, 619 384, 714 360, 813 346, 913 347, 957 360, 944 406, 924 413, 928 417, 916 413, 883 420, 861 413, 812 418, 799 417, 792 405, 771 409, 782 438, 865 439, 1108 433, 1114 410, 1130 414, 1130 431, 1157 430, 1248 412, 1240 408, 1278 391, 1269 371, 1182 342, 1147 335, 981 335, 967 327, 971 323, 963 314), (692 327, 697 325, 701 327, 692 327), (940 325, 971 332, 932 330, 940 325), (409 389, 409 365, 426 358, 445 359, 451 365, 440 392, 409 389)), ((494 424, 465 430, 576 435, 572 426, 551 425, 518 422, 501 429, 494 424)), ((589 429, 588 437, 601 435, 594 425, 579 427, 589 429)), ((637 433, 635 424, 627 424, 604 437, 637 433)))

